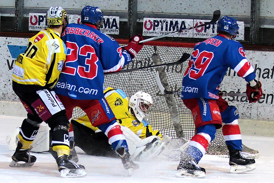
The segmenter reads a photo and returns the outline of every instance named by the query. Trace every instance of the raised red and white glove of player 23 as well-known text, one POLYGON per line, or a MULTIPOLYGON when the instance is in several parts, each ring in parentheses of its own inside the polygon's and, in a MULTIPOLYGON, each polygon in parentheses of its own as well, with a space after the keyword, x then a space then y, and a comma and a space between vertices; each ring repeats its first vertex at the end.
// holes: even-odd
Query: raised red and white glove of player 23
POLYGON ((128 45, 125 46, 125 50, 127 50, 132 56, 133 58, 137 55, 137 53, 142 49, 143 47, 143 43, 139 43, 140 41, 143 40, 143 37, 141 34, 138 34, 136 36, 132 36, 129 40, 128 40, 128 45))

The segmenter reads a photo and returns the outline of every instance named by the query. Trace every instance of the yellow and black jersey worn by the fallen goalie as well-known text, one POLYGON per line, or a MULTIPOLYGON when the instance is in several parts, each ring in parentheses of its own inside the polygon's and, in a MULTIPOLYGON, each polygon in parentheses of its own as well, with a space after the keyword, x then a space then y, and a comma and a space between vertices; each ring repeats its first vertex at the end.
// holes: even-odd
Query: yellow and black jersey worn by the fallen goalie
MULTIPOLYGON (((151 135, 157 135, 162 138, 162 135, 158 130, 153 131, 151 125, 144 127, 143 123, 131 113, 128 106, 129 99, 122 90, 107 87, 104 88, 104 96, 120 125, 128 127, 142 139, 151 135)), ((74 120, 91 128, 93 131, 98 130, 97 127, 91 125, 90 120, 86 115, 74 120)))

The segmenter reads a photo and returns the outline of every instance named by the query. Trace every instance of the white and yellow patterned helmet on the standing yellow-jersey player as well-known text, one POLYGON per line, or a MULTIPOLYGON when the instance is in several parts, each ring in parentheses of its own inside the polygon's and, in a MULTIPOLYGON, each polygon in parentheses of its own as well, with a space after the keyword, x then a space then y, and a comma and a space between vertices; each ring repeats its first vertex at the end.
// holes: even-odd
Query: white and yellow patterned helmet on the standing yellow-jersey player
POLYGON ((67 12, 61 7, 50 7, 47 10, 47 25, 62 25, 65 21, 65 26, 68 24, 67 12))

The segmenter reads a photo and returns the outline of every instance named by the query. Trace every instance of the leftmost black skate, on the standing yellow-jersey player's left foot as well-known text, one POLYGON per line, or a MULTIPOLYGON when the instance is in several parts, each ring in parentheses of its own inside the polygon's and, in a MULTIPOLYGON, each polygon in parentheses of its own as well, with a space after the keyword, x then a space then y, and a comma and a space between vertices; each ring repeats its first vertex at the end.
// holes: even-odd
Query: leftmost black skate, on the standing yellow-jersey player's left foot
POLYGON ((12 155, 12 162, 9 163, 9 166, 11 167, 30 167, 34 164, 36 161, 35 156, 30 156, 30 149, 32 149, 32 146, 30 146, 30 149, 21 149, 22 143, 18 141, 16 150, 14 154, 12 155))

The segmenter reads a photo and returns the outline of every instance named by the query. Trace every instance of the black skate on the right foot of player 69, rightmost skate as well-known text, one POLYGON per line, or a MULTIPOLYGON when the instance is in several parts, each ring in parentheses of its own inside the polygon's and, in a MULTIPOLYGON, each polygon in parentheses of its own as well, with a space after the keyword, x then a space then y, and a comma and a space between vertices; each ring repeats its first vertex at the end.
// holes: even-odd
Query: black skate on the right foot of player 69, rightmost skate
POLYGON ((231 174, 239 174, 255 170, 255 160, 244 155, 246 152, 233 150, 229 153, 229 165, 231 174))

